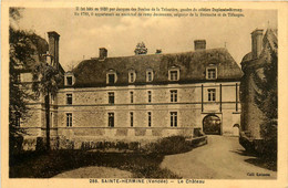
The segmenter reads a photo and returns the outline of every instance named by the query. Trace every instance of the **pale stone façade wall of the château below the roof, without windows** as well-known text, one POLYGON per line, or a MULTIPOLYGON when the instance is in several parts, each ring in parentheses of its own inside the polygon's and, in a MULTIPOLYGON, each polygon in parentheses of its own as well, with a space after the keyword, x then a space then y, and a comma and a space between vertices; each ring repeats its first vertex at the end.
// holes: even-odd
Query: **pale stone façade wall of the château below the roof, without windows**
MULTIPOLYGON (((58 96, 51 100, 51 146, 80 148, 85 142, 145 143, 172 135, 193 137, 194 128, 203 128, 204 117, 210 114, 220 117, 223 135, 238 136, 238 132, 233 127, 234 124, 239 124, 240 112, 239 104, 236 112, 236 83, 222 83, 222 106, 219 84, 205 83, 203 87, 202 84, 175 84, 62 88, 58 96), (208 102, 207 88, 216 88, 216 102, 208 102), (177 90, 176 103, 171 102, 171 90, 177 90), (147 91, 152 92, 151 103, 147 91), (114 104, 109 104, 109 92, 114 92, 114 104), (133 92, 133 103, 130 92, 133 92), (72 94, 72 105, 66 104, 66 94, 72 94), (133 127, 130 121, 131 112, 133 112, 133 127), (148 127, 148 112, 152 115, 151 127, 148 127), (177 127, 171 127, 171 112, 177 112, 177 127), (66 113, 72 113, 72 127, 66 127, 66 113), (107 113, 114 113, 114 127, 109 127, 107 113)), ((30 113, 32 116, 24 125, 34 129, 29 129, 31 134, 28 139, 43 138, 38 140, 43 143, 45 142, 43 102, 34 105, 34 109, 30 113)), ((33 148, 33 144, 29 143, 31 142, 23 148, 33 148)))

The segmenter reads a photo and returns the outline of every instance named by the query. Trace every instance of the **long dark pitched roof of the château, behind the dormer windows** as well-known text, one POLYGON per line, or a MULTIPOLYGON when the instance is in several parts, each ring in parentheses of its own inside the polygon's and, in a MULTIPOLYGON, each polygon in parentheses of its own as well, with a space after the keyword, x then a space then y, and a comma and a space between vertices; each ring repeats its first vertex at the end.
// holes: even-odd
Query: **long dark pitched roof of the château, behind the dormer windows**
POLYGON ((217 65, 218 81, 238 81, 243 75, 240 67, 226 49, 106 58, 104 60, 91 59, 82 61, 72 72, 75 76, 74 87, 105 86, 106 73, 111 69, 117 74, 117 82, 114 85, 127 85, 130 70, 136 72, 136 80, 133 84, 145 84, 147 69, 154 71, 152 84, 167 84, 171 83, 168 82, 168 70, 172 66, 179 67, 177 83, 195 83, 206 81, 206 67, 209 64, 217 65))

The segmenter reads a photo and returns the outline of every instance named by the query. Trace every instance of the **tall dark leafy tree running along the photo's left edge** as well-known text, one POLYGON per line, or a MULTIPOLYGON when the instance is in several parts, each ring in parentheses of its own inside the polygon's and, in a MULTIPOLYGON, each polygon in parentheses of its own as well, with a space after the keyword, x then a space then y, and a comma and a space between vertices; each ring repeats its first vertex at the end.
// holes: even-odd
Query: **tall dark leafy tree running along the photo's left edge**
POLYGON ((20 83, 20 73, 28 70, 29 64, 34 63, 33 55, 37 50, 33 44, 35 34, 21 31, 17 27, 21 18, 20 10, 17 8, 9 10, 9 149, 11 155, 17 147, 18 139, 24 133, 17 125, 20 123, 20 118, 24 119, 28 116, 28 101, 33 97, 28 92, 28 85, 20 83))

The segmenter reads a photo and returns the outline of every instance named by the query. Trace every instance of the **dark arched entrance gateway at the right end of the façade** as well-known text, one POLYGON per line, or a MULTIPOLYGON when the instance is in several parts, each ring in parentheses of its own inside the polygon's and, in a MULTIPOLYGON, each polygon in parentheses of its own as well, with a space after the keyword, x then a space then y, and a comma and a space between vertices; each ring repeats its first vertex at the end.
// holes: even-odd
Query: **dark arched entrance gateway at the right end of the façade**
POLYGON ((203 132, 210 135, 220 135, 220 118, 214 114, 203 119, 203 132))

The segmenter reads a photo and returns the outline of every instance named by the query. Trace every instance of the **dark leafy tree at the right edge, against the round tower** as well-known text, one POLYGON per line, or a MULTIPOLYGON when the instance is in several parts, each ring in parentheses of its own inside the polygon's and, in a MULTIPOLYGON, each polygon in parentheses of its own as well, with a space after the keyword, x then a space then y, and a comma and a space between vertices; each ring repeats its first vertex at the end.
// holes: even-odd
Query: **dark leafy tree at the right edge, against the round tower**
POLYGON ((277 130, 278 130, 278 55, 277 50, 269 48, 263 67, 264 77, 255 74, 255 83, 258 87, 255 102, 265 115, 261 127, 261 136, 265 140, 265 150, 268 157, 277 157, 277 130))

